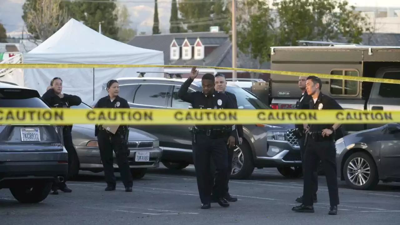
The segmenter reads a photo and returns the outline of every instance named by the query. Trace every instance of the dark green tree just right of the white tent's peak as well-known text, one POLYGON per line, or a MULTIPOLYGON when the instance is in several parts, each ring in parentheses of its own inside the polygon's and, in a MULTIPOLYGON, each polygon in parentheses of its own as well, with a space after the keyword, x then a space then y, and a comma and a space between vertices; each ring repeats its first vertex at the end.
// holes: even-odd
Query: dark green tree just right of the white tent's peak
POLYGON ((118 40, 118 16, 114 0, 91 0, 90 2, 73 2, 71 5, 73 16, 76 20, 82 21, 93 30, 99 30, 104 36, 118 40))

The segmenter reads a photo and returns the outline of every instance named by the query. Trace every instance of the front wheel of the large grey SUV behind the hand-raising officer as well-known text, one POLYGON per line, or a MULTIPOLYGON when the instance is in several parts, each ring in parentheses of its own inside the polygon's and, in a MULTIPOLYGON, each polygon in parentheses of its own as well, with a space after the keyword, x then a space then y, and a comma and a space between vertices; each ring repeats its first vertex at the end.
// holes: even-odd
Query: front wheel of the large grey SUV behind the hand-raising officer
POLYGON ((254 171, 253 154, 250 145, 243 140, 242 145, 233 152, 232 173, 230 179, 248 179, 254 171))

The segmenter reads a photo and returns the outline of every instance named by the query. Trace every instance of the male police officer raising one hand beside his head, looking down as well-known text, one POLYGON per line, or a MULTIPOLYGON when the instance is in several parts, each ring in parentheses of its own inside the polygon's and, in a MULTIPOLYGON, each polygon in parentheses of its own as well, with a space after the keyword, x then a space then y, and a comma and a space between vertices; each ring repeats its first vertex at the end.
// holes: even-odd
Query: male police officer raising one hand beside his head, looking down
MULTIPOLYGON (((233 108, 225 94, 214 91, 214 75, 204 74, 202 77, 203 91, 188 92, 188 88, 197 77, 198 70, 192 68, 190 77, 182 84, 178 97, 192 104, 193 108, 221 109, 233 108)), ((204 115, 206 116, 206 115, 204 115)), ((228 150, 226 145, 235 145, 236 129, 234 126, 223 125, 195 125, 192 128, 192 150, 194 168, 196 170, 197 187, 202 202, 202 209, 211 207, 211 192, 213 175, 210 161, 213 159, 216 166, 216 199, 222 207, 228 207, 229 202, 224 199, 226 174, 228 170, 228 150), (226 138, 228 136, 228 139, 226 138)))

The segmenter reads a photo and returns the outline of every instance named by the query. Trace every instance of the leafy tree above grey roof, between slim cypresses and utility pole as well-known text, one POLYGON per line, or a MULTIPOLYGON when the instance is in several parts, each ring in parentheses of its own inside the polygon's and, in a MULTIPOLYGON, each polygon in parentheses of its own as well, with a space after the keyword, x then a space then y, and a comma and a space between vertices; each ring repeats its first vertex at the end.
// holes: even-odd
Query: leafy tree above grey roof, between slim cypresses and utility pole
POLYGON ((182 0, 178 8, 182 23, 192 32, 210 31, 210 26, 224 29, 230 20, 224 0, 182 0))

